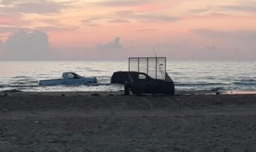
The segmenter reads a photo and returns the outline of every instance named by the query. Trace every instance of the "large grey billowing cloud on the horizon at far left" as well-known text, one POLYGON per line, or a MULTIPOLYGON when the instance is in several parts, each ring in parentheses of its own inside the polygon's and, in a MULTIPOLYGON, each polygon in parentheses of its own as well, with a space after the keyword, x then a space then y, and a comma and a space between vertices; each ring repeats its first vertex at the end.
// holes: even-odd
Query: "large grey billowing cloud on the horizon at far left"
POLYGON ((2 42, 5 60, 46 60, 49 59, 48 36, 41 31, 20 30, 2 42))

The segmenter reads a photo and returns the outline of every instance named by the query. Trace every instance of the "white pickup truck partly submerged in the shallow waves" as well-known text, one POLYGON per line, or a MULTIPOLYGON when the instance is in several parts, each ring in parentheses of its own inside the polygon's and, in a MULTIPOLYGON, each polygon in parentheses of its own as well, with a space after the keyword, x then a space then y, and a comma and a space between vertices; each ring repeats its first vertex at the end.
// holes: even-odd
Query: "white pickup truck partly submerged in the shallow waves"
POLYGON ((39 80, 39 85, 71 85, 97 83, 96 77, 83 77, 74 72, 64 72, 62 79, 39 80))

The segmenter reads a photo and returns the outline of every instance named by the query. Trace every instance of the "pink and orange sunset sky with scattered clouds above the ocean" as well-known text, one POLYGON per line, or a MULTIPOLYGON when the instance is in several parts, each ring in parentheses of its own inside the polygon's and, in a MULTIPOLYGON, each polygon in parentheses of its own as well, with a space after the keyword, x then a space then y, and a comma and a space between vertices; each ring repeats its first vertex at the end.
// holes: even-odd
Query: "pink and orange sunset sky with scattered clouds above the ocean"
POLYGON ((0 60, 255 60, 255 0, 0 0, 0 60))

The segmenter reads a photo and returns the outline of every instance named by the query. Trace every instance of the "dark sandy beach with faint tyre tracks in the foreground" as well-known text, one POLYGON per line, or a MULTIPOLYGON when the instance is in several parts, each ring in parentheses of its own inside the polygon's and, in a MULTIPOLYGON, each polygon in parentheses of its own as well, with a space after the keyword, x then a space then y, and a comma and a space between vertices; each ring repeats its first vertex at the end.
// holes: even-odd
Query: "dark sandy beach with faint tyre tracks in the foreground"
POLYGON ((0 151, 256 151, 256 95, 0 93, 0 151))

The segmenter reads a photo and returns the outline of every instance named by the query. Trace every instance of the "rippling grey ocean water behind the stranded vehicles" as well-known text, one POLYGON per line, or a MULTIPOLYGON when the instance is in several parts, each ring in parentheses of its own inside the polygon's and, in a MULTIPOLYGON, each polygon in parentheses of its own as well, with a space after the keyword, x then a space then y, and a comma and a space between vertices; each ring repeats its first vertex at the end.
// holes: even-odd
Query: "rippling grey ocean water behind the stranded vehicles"
MULTIPOLYGON (((0 61, 0 91, 120 91, 113 72, 128 71, 128 61, 0 61), (98 84, 40 86, 63 72, 95 76, 98 84)), ((256 61, 167 61, 175 88, 186 91, 256 91, 256 61)))

